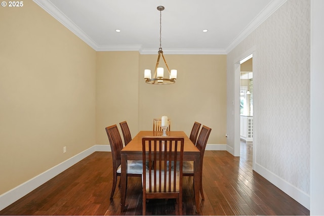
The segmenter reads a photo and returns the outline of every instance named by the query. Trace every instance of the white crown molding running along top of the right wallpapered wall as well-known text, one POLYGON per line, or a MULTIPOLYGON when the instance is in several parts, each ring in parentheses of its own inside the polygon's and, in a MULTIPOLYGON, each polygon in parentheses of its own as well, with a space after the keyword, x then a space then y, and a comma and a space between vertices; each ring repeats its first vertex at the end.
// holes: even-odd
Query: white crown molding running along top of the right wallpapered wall
POLYGON ((259 25, 270 17, 287 0, 272 0, 227 46, 226 53, 231 52, 240 42, 251 34, 259 25))

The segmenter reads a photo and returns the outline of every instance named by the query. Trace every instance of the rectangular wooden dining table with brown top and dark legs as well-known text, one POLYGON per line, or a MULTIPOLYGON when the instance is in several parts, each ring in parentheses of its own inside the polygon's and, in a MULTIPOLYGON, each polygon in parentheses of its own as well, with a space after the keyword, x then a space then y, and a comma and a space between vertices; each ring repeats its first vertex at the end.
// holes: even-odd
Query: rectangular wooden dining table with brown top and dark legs
MULTIPOLYGON (((120 191, 121 191, 121 211, 125 209, 126 191, 127 191, 127 160, 142 160, 142 138, 145 136, 162 136, 163 132, 140 131, 131 142, 121 150, 121 174, 120 174, 120 191)), ((184 137, 183 160, 194 161, 194 197, 196 212, 199 213, 200 199, 200 152, 197 147, 190 141, 183 131, 168 131, 167 136, 184 137)))

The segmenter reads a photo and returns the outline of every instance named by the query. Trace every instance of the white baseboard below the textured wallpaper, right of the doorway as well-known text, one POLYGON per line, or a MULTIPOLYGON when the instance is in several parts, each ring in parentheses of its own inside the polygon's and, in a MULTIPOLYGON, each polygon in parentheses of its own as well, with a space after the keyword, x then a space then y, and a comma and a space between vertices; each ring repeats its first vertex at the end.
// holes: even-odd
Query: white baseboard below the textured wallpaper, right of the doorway
POLYGON ((297 202, 302 204, 305 208, 307 208, 308 210, 310 209, 310 195, 309 194, 306 194, 305 192, 296 188, 289 182, 285 181, 284 179, 281 179, 280 177, 275 175, 273 172, 269 171, 268 169, 266 169, 265 167, 261 166, 258 163, 255 164, 255 171, 258 172, 258 174, 263 176, 265 179, 267 179, 269 182, 271 182, 273 185, 275 185, 277 188, 284 191, 290 197, 292 197, 297 202))

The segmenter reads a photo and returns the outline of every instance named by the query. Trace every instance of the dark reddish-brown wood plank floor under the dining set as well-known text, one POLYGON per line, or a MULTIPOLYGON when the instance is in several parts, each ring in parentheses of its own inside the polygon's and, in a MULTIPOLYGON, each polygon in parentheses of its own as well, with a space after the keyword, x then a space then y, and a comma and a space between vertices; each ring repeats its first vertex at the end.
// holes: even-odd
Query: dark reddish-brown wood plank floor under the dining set
MULTIPOLYGON (((0 211, 0 215, 141 215, 141 178, 128 179, 125 212, 111 191, 111 153, 95 152, 0 211)), ((183 179, 183 214, 195 214, 193 178, 183 179)), ((200 215, 309 215, 309 210, 252 170, 252 144, 241 156, 205 151, 200 215)), ((174 200, 150 200, 147 214, 175 214, 174 200)))

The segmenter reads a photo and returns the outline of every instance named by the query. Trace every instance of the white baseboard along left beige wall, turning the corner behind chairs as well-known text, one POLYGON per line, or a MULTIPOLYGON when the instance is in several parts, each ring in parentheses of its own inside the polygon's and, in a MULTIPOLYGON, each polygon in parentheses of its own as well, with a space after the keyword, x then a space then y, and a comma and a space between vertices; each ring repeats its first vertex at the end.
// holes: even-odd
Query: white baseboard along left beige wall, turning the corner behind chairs
POLYGON ((80 160, 86 158, 90 154, 100 149, 100 151, 110 150, 110 146, 108 145, 95 145, 90 147, 89 149, 80 152, 79 154, 63 161, 62 163, 44 171, 42 174, 24 182, 23 184, 11 189, 10 191, 0 195, 0 210, 6 208, 7 206, 11 205, 12 203, 16 202, 18 199, 22 198, 23 196, 27 195, 34 189, 38 188, 39 186, 43 185, 50 179, 54 178, 55 176, 59 175, 65 169, 71 167, 75 163, 79 162, 80 160))

